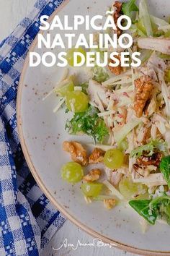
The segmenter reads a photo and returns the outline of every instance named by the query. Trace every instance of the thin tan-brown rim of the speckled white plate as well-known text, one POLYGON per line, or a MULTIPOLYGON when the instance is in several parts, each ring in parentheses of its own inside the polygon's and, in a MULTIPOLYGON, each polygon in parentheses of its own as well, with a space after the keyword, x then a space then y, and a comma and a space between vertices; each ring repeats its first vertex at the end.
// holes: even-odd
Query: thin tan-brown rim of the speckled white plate
MULTIPOLYGON (((66 6, 66 4, 68 4, 68 2, 71 0, 64 0, 63 3, 57 8, 55 9, 55 11, 53 12, 53 14, 50 15, 50 17, 48 18, 48 22, 51 22, 53 20, 53 17, 61 11, 61 9, 63 9, 63 7, 66 6)), ((43 31, 40 31, 39 33, 43 33, 43 31)), ((110 239, 107 236, 104 236, 102 234, 99 234, 97 231, 94 231, 93 229, 91 229, 89 226, 86 226, 84 223, 81 223, 81 221, 76 220, 75 217, 71 216, 70 213, 68 213, 68 211, 66 210, 66 208, 64 208, 63 205, 61 205, 59 202, 57 202, 57 200, 55 199, 55 197, 53 197, 53 195, 48 191, 47 187, 45 187, 44 182, 42 182, 42 180, 40 179, 39 174, 36 171, 36 168, 34 166, 34 164, 32 163, 32 159, 31 159, 31 155, 28 152, 27 149, 27 145, 26 142, 24 140, 24 133, 23 133, 23 129, 22 129, 22 108, 21 108, 21 102, 22 102, 22 89, 24 87, 24 76, 25 73, 27 71, 27 67, 29 64, 29 53, 30 51, 33 51, 35 49, 35 46, 37 45, 37 36, 35 37, 35 40, 33 40, 29 51, 27 52, 27 57, 24 61, 24 65, 22 68, 22 73, 20 75, 19 78, 19 85, 18 85, 18 90, 17 90, 17 129, 18 129, 18 133, 19 133, 19 141, 22 147, 22 152, 24 154, 24 158, 27 162, 28 167, 30 168, 30 171, 32 173, 32 176, 34 177, 35 181, 37 182, 38 186, 40 187, 40 189, 42 190, 42 192, 45 194, 46 197, 48 197, 48 200, 50 200, 50 202, 53 204, 53 206, 55 208, 57 208, 62 214, 63 216, 65 216, 69 221, 71 221, 72 223, 74 223, 76 226, 78 226, 79 228, 81 228, 82 230, 84 230, 87 234, 102 240, 102 242, 104 243, 108 243, 108 244, 112 244, 112 247, 117 247, 118 249, 122 249, 131 253, 135 253, 138 255, 146 255, 146 256, 164 256, 164 255, 170 255, 170 251, 169 252, 164 252, 164 251, 153 251, 153 250, 148 250, 148 249, 139 249, 137 247, 132 247, 129 244, 124 244, 121 242, 117 242, 113 239, 110 239)))

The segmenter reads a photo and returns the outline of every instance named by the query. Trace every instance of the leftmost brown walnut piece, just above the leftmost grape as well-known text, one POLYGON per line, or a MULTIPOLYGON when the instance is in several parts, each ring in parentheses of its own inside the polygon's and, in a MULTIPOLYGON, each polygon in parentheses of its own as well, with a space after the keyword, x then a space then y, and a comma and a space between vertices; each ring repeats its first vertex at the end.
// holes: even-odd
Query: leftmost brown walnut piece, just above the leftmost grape
POLYGON ((74 162, 80 163, 82 166, 86 166, 88 164, 86 150, 79 142, 65 141, 63 142, 63 150, 71 154, 71 159, 74 162))

